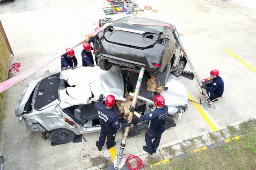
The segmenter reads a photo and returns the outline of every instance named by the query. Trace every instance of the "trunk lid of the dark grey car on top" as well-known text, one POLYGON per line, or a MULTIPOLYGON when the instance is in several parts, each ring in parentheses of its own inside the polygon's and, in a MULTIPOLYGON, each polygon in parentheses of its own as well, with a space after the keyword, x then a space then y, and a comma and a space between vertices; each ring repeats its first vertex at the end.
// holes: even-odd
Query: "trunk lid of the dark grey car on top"
POLYGON ((160 31, 129 23, 113 23, 104 31, 104 38, 115 44, 145 49, 156 43, 160 31))

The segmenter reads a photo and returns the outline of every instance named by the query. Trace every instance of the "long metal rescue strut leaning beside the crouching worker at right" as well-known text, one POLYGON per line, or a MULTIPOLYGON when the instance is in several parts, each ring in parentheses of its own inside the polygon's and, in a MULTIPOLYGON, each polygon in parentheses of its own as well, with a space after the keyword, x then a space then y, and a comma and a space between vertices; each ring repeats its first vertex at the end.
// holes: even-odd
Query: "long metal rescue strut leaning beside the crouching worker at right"
MULTIPOLYGON (((185 49, 184 49, 184 47, 183 47, 183 44, 182 44, 181 39, 180 39, 180 36, 179 36, 179 34, 178 34, 177 30, 176 30, 176 27, 173 26, 172 29, 173 29, 173 33, 174 33, 174 36, 175 36, 175 38, 176 38, 176 41, 179 43, 180 48, 181 48, 181 50, 182 50, 184 56, 186 57, 186 60, 187 60, 187 63, 188 63, 188 65, 189 65, 189 67, 191 68, 192 72, 194 73, 194 75, 195 75, 195 77, 196 77, 196 80, 197 80, 197 83, 198 83, 199 86, 201 87, 201 86, 202 86, 202 83, 201 83, 201 81, 200 81, 200 79, 199 79, 199 77, 198 77, 198 75, 197 75, 197 72, 196 72, 196 70, 195 70, 193 64, 192 64, 191 61, 190 61, 190 58, 188 57, 188 55, 187 55, 187 53, 186 53, 186 51, 185 51, 185 49)), ((204 88, 201 88, 201 89, 202 89, 203 95, 205 96, 205 99, 207 99, 207 101, 208 101, 208 103, 207 103, 207 102, 204 102, 204 109, 210 110, 210 111, 211 111, 211 110, 215 110, 215 106, 212 105, 212 101, 210 100, 210 98, 209 98, 207 92, 205 91, 204 88)))

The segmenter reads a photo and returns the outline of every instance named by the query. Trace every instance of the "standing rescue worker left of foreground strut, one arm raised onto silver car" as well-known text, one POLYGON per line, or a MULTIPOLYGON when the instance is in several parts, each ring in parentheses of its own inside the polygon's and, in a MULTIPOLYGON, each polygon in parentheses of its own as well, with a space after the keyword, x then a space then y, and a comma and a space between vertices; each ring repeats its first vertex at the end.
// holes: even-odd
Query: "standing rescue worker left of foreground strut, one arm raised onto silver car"
POLYGON ((107 149, 110 149, 116 145, 115 137, 118 129, 124 129, 126 126, 130 126, 131 123, 119 123, 118 118, 114 109, 112 108, 115 104, 115 97, 113 95, 108 95, 105 100, 105 105, 102 102, 103 94, 99 96, 99 99, 95 102, 95 109, 98 111, 100 120, 100 137, 99 141, 96 142, 96 146, 99 151, 101 151, 102 146, 105 143, 106 135, 108 134, 108 139, 106 142, 107 149))

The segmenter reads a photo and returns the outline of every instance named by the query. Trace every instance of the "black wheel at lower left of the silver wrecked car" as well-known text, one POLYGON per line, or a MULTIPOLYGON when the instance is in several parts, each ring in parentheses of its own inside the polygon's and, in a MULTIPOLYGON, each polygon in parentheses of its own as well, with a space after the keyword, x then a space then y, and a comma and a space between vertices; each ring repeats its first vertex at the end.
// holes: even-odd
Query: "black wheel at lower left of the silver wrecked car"
POLYGON ((60 128, 49 132, 49 139, 57 144, 68 143, 74 139, 74 133, 68 129, 60 128))

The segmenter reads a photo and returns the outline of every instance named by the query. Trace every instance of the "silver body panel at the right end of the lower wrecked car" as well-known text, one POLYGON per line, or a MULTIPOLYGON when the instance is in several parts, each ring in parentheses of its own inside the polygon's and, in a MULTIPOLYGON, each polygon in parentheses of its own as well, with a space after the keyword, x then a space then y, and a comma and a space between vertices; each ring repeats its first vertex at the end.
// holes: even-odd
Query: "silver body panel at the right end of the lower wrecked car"
POLYGON ((187 89, 173 74, 170 74, 166 87, 168 87, 168 90, 162 90, 161 95, 165 98, 167 106, 175 107, 187 104, 187 89))

